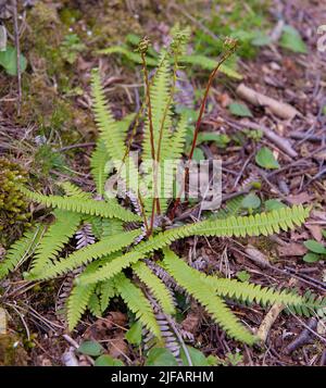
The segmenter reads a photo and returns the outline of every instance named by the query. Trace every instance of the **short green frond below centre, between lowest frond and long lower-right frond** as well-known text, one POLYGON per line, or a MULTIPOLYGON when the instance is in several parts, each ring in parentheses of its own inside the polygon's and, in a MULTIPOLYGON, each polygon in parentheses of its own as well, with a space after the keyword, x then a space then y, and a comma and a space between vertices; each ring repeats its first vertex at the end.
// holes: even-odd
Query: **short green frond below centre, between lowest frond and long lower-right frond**
POLYGON ((133 270, 139 279, 149 288, 152 296, 160 303, 163 312, 173 315, 175 313, 173 298, 164 283, 155 276, 143 262, 134 264, 133 270))

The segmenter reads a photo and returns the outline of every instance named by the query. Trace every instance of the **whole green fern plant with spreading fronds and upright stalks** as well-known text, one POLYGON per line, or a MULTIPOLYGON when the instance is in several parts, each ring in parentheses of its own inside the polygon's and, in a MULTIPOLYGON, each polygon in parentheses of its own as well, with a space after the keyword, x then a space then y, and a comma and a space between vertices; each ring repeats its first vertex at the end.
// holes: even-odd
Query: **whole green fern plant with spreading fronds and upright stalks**
MULTIPOLYGON (((137 163, 129 157, 131 140, 143 123, 143 159, 153 159, 163 165, 165 160, 183 157, 188 124, 185 117, 177 117, 173 113, 173 105, 179 59, 185 54, 187 36, 183 32, 174 34, 171 48, 158 59, 159 67, 152 79, 149 79, 147 72, 149 42, 143 40, 139 45, 146 97, 140 112, 133 117, 134 126, 129 133, 126 125, 114 120, 99 72, 92 73, 93 114, 99 128, 97 147, 90 160, 96 193, 84 192, 68 183, 61 185, 63 196, 45 196, 20 187, 30 201, 54 209, 55 221, 48 228, 38 225, 36 230, 28 231, 15 242, 0 264, 0 276, 7 276, 30 256, 33 260, 24 274, 28 280, 47 280, 79 268, 80 275, 76 277, 66 303, 71 330, 87 309, 101 315, 112 298, 121 297, 143 327, 160 343, 164 342, 147 296, 155 300, 165 316, 173 316, 176 308, 174 291, 150 263, 161 267, 179 288, 202 304, 231 338, 248 345, 253 345, 256 338, 230 310, 225 298, 262 305, 279 302, 298 313, 313 313, 326 305, 326 299, 205 275, 188 265, 171 249, 173 241, 190 236, 267 236, 289 230, 300 226, 310 212, 298 205, 235 216, 227 210, 216 217, 209 214, 206 220, 192 224, 178 225, 172 221, 167 225, 164 214, 168 201, 160 196, 161 201, 146 198, 143 187, 149 176, 154 174, 150 168, 138 171, 137 163), (124 167, 126 160, 128 168, 124 167), (116 198, 109 196, 105 189, 110 175, 108 162, 128 188, 118 192, 116 198), (95 242, 92 240, 93 243, 65 255, 64 247, 84 223, 91 225, 95 242)), ((216 65, 212 78, 222 63, 216 65)), ((159 184, 159 193, 161 189, 159 184)))

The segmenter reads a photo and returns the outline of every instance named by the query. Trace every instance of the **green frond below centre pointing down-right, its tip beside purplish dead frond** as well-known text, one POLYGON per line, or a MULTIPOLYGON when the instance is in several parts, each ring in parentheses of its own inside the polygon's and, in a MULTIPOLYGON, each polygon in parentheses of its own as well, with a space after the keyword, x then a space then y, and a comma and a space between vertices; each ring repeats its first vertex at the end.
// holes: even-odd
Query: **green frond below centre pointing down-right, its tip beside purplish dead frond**
POLYGON ((142 291, 122 273, 115 277, 115 288, 141 324, 160 339, 161 330, 155 320, 153 309, 142 291))

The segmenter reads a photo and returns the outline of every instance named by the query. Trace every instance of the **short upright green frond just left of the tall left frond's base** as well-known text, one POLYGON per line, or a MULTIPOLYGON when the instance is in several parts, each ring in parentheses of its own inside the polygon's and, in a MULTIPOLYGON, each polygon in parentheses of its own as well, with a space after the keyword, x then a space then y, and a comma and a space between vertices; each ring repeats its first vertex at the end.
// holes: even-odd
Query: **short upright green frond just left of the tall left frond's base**
POLYGON ((108 174, 105 173, 105 165, 110 157, 103 141, 99 140, 96 150, 91 154, 90 171, 92 178, 97 185, 97 192, 100 196, 104 195, 104 185, 108 174))

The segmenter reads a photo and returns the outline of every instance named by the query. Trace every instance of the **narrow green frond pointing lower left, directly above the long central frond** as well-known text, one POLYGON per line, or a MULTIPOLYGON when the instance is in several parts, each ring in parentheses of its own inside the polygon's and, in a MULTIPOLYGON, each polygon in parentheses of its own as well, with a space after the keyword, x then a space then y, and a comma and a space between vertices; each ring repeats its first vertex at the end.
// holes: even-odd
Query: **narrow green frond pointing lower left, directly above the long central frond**
MULTIPOLYGON (((136 229, 131 231, 126 231, 124 234, 111 236, 110 238, 102 239, 96 243, 87 246, 83 249, 79 249, 67 258, 62 258, 55 264, 49 265, 43 268, 41 273, 28 274, 28 279, 49 279, 64 274, 65 272, 77 268, 84 264, 87 264, 90 261, 100 259, 104 255, 108 255, 112 252, 118 251, 120 249, 129 246, 136 237, 139 236, 141 229, 136 229)), ((111 263, 109 263, 111 264, 111 263)))

